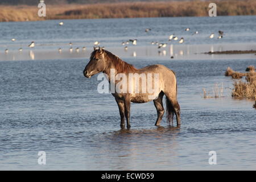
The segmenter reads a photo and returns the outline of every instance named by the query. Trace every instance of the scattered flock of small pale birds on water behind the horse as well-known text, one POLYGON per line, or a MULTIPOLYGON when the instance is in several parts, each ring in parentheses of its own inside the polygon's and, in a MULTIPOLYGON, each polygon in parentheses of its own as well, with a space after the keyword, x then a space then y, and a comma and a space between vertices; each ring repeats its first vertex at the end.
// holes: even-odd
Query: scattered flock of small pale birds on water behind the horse
MULTIPOLYGON (((60 22, 59 23, 59 26, 63 26, 63 24, 64 24, 64 22, 60 22)), ((191 30, 191 28, 185 28, 185 31, 190 31, 191 30)), ((146 30, 145 30, 145 32, 149 32, 149 31, 151 31, 151 28, 146 28, 146 30)), ((199 34, 199 31, 195 31, 192 35, 196 35, 196 34, 199 34)), ((218 31, 218 38, 217 39, 222 39, 223 38, 223 35, 224 35, 224 32, 223 31, 221 31, 221 30, 219 30, 218 31)), ((210 34, 210 36, 209 36, 209 38, 210 39, 213 39, 214 38, 214 33, 212 33, 212 34, 210 34)), ((15 40, 16 39, 11 39, 11 41, 13 41, 13 42, 15 42, 15 40)), ((175 36, 175 34, 172 34, 172 35, 170 35, 169 36, 169 38, 168 38, 168 42, 171 42, 171 41, 176 41, 176 40, 179 40, 179 43, 180 44, 182 44, 182 43, 184 43, 184 38, 177 38, 177 36, 175 36)), ((125 51, 127 51, 128 50, 128 44, 129 43, 131 43, 131 44, 133 44, 134 46, 136 46, 137 45, 137 39, 129 39, 129 40, 127 40, 126 42, 122 42, 122 45, 123 46, 125 46, 124 47, 124 49, 125 49, 125 51)), ((156 46, 158 46, 158 48, 160 49, 160 48, 165 48, 165 47, 167 47, 167 43, 158 43, 158 42, 151 42, 151 44, 152 45, 156 45, 156 46)), ((69 43, 69 52, 73 52, 73 47, 72 47, 72 43, 70 42, 69 43)), ((98 46, 100 45, 100 42, 98 42, 98 41, 96 41, 96 42, 94 42, 94 49, 98 49, 98 46)), ((30 44, 28 44, 28 47, 30 47, 30 48, 34 48, 35 47, 35 42, 31 42, 30 44)), ((105 49, 104 47, 101 47, 102 49, 105 49)), ((21 48, 19 48, 19 51, 21 52, 23 49, 22 49, 22 47, 21 48)), ((85 51, 86 50, 86 47, 82 47, 82 50, 83 51, 85 51)), ((58 49, 58 51, 59 51, 59 53, 61 53, 62 52, 62 49, 61 48, 59 48, 58 49)), ((79 47, 77 47, 76 48, 76 52, 79 52, 80 51, 80 48, 79 47)), ((9 52, 9 50, 8 49, 5 49, 5 53, 7 54, 9 52)))

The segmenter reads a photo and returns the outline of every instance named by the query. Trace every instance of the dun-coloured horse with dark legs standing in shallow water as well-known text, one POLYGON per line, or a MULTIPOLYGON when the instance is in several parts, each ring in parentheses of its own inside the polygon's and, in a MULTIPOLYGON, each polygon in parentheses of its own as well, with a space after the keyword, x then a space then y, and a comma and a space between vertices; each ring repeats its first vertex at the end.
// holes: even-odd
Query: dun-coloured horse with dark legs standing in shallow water
MULTIPOLYGON (((130 103, 144 103, 149 101, 154 101, 154 105, 156 107, 156 111, 158 114, 158 118, 156 119, 155 126, 160 126, 160 122, 164 115, 164 107, 163 107, 163 96, 166 96, 166 112, 167 112, 167 122, 172 122, 174 119, 174 114, 176 115, 177 127, 181 125, 180 122, 180 106, 177 102, 177 82, 175 72, 171 69, 165 67, 164 65, 155 64, 148 65, 147 67, 137 69, 133 65, 126 63, 121 60, 118 56, 113 55, 113 53, 102 49, 101 47, 95 48, 94 51, 90 55, 89 63, 84 68, 84 76, 90 78, 97 73, 105 73, 106 78, 108 78, 109 84, 114 84, 117 86, 121 81, 113 80, 112 73, 114 76, 117 76, 121 73, 122 81, 127 80, 123 77, 130 76, 133 74, 137 75, 154 75, 154 84, 158 84, 158 89, 155 90, 154 93, 142 92, 145 86, 149 84, 143 84, 142 77, 139 82, 134 83, 134 79, 131 82, 129 80, 128 83, 123 84, 122 87, 131 88, 139 90, 139 92, 117 92, 117 88, 114 88, 114 92, 112 95, 117 102, 119 114, 121 117, 121 128, 125 128, 125 118, 126 118, 126 127, 129 129, 130 125, 130 103), (112 72, 114 71, 114 72, 112 72), (155 81, 155 78, 158 77, 158 80, 155 81), (139 89, 138 89, 139 88, 139 89), (151 97, 150 97, 151 96, 151 97)), ((147 77, 146 77, 147 78, 147 77)), ((148 80, 147 78, 146 80, 148 80)), ((132 79, 131 79, 132 80, 132 79)), ((152 78, 150 79, 152 81, 152 78)), ((152 83, 152 82, 151 82, 152 83)), ((110 86, 111 87, 111 86, 110 86)), ((121 88, 121 86, 120 86, 121 88)), ((119 90, 120 91, 120 90, 119 90)), ((130 90, 129 90, 130 91, 130 90)))

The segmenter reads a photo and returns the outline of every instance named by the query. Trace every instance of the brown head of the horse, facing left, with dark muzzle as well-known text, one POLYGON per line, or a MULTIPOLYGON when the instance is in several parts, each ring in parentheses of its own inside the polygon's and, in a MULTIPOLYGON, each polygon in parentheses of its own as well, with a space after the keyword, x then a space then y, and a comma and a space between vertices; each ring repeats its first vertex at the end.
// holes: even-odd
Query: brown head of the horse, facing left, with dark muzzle
POLYGON ((104 57, 104 49, 94 47, 94 51, 90 56, 90 61, 84 68, 84 76, 90 78, 91 76, 105 70, 106 61, 104 57))

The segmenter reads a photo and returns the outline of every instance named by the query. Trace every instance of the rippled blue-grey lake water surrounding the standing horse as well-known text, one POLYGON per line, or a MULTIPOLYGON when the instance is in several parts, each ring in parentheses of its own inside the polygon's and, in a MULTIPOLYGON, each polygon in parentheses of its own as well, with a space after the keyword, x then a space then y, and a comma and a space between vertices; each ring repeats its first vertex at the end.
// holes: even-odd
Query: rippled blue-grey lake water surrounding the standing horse
POLYGON ((186 46, 254 47, 253 20, 255 16, 65 20, 61 27, 57 20, 0 23, 0 169, 256 169, 254 101, 232 99, 233 81, 224 76, 227 67, 245 72, 255 65, 254 55, 202 58, 185 51, 186 46), (147 34, 148 27, 152 31, 147 34), (191 35, 194 30, 201 33, 198 39, 191 35), (225 39, 207 38, 218 30, 225 39), (170 43, 166 55, 150 45, 168 41, 172 33, 187 39, 184 53, 177 51, 175 59, 170 59, 170 43), (138 39, 138 48, 129 44, 133 51, 125 52, 121 42, 130 38, 138 39), (32 40, 39 45, 27 48, 32 40), (132 104, 131 129, 119 128, 114 97, 97 92, 97 76, 82 75, 96 40, 137 68, 163 64, 176 72, 179 129, 168 126, 165 117, 162 127, 154 126, 153 102, 132 104), (69 42, 74 49, 88 49, 69 53, 69 42), (59 47, 64 49, 60 55, 59 47), (26 58, 31 50, 42 55, 26 58), (204 99, 203 89, 213 95, 214 84, 223 85, 223 97, 204 99), (46 165, 38 164, 39 151, 46 152, 46 165), (216 151, 216 165, 209 165, 209 151, 216 151))

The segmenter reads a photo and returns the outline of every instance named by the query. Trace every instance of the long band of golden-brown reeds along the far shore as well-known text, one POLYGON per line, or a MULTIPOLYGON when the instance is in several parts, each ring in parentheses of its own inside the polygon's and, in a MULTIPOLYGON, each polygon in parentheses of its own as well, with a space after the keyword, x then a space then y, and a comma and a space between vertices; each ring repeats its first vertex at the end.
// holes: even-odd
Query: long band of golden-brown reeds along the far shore
POLYGON ((46 17, 37 6, 0 6, 0 21, 45 19, 142 18, 208 16, 209 3, 217 4, 217 15, 256 15, 256 1, 168 1, 47 5, 46 17))

